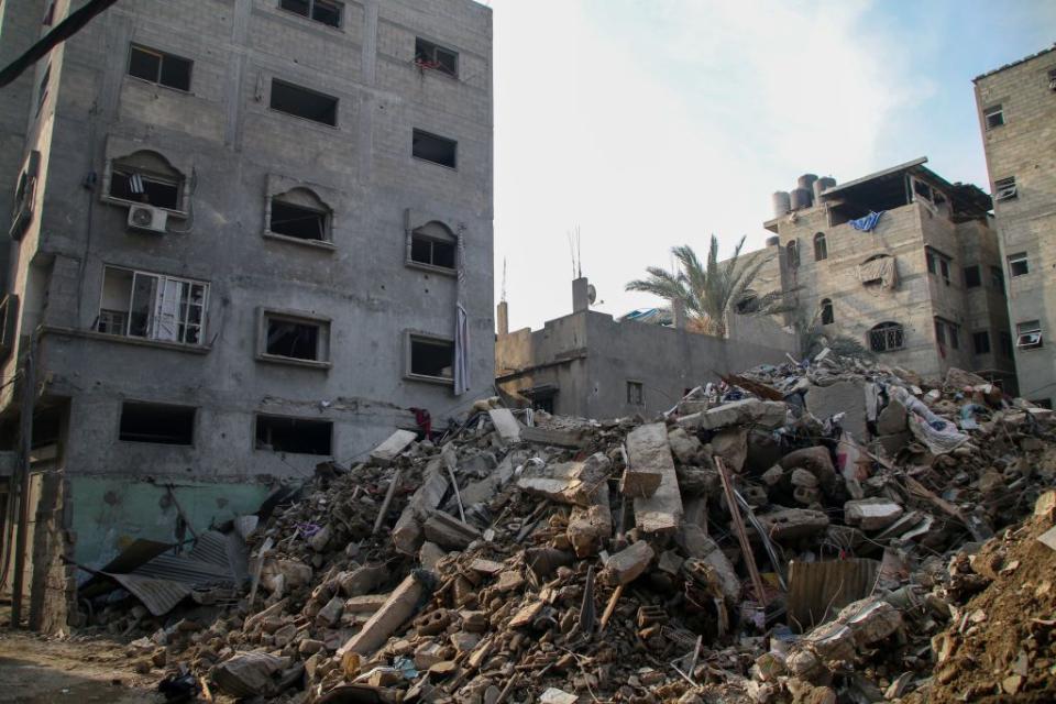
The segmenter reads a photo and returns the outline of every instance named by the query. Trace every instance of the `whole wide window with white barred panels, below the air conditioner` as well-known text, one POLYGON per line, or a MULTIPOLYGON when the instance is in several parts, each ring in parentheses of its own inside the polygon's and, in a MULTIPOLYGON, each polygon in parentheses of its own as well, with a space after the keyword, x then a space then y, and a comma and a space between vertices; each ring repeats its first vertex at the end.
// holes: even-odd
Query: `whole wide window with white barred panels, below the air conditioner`
POLYGON ((107 266, 96 330, 107 334, 202 344, 209 284, 107 266))

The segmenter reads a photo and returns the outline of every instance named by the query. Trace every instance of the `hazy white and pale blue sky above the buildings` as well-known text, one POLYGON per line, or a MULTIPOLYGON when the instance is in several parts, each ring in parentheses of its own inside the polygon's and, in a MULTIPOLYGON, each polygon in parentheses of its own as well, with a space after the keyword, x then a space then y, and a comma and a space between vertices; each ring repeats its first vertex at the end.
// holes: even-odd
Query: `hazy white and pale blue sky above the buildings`
POLYGON ((770 194, 917 156, 989 190, 971 79, 1056 41, 1054 0, 491 0, 495 299, 510 328, 595 309, 670 248, 762 246, 770 194))

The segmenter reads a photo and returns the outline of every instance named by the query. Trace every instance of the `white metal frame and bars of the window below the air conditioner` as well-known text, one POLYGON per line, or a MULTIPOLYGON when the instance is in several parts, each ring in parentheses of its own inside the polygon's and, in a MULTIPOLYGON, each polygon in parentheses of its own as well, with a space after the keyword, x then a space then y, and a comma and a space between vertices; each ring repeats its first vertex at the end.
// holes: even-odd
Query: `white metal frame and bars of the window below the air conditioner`
POLYGON ((180 346, 187 348, 205 348, 206 338, 208 333, 208 323, 209 323, 209 294, 210 294, 210 282, 198 279, 198 278, 188 278, 186 276, 169 276, 167 274, 161 274, 158 272, 151 272, 146 270, 138 270, 128 266, 119 266, 116 264, 103 264, 102 266, 102 280, 100 282, 99 287, 99 306, 97 309, 96 321, 92 328, 96 332, 101 334, 112 336, 114 338, 124 338, 130 340, 146 340, 150 342, 162 342, 165 344, 177 344, 180 346), (125 272, 132 275, 132 283, 129 287, 129 306, 128 310, 117 310, 103 308, 102 304, 102 294, 103 288, 107 285, 107 272, 125 272), (136 277, 153 278, 155 279, 154 288, 151 293, 151 306, 146 319, 146 331, 145 334, 133 334, 132 333, 132 311, 133 302, 135 301, 135 282, 136 277), (176 328, 177 337, 175 339, 160 337, 158 332, 163 327, 162 318, 164 315, 164 307, 166 305, 165 297, 168 292, 169 283, 173 283, 177 286, 187 287, 187 302, 186 310, 180 311, 184 308, 183 293, 177 293, 176 298, 176 316, 173 324, 176 328), (196 287, 201 288, 201 302, 193 304, 194 289, 196 287), (197 323, 190 322, 190 312, 193 307, 197 306, 200 308, 200 317, 197 323), (124 319, 121 322, 122 330, 120 332, 111 332, 110 330, 101 330, 100 328, 103 324, 103 316, 112 314, 123 314, 124 319), (183 328, 183 331, 180 331, 183 328), (198 330, 198 342, 187 342, 187 333, 191 329, 197 328, 198 330), (180 339, 183 338, 183 339, 180 339))

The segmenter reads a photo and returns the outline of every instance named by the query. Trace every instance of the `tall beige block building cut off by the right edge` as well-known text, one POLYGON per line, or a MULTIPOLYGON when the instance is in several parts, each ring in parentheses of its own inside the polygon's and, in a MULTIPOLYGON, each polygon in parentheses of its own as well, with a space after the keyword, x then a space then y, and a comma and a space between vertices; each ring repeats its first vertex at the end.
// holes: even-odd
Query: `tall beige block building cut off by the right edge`
POLYGON ((975 79, 1024 398, 1056 403, 1056 45, 975 79))

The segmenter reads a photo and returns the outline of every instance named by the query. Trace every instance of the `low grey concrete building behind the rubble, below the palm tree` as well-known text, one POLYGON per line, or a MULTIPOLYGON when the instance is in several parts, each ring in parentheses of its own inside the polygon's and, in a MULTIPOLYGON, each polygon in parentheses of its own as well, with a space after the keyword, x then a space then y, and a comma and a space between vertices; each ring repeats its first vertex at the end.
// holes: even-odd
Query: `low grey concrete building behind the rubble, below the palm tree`
POLYGON ((509 331, 498 305, 495 381, 512 399, 548 413, 610 418, 670 409, 693 387, 748 364, 780 364, 795 336, 769 320, 729 316, 727 337, 617 320, 591 310, 585 277, 572 282, 572 312, 541 330, 509 331))

